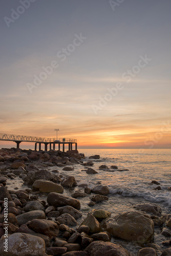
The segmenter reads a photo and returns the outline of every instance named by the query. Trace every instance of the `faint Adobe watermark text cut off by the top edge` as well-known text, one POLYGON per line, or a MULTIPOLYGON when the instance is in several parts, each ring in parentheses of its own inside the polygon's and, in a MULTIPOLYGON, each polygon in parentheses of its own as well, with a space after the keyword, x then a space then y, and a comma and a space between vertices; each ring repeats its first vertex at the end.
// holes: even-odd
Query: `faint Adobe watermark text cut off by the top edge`
POLYGON ((20 15, 23 14, 26 11, 26 9, 28 9, 30 7, 31 3, 34 3, 35 1, 36 0, 19 0, 19 3, 21 5, 19 5, 16 8, 16 10, 11 9, 10 17, 7 17, 7 16, 4 17, 7 27, 9 28, 10 24, 14 23, 15 20, 17 20, 20 17, 20 15))

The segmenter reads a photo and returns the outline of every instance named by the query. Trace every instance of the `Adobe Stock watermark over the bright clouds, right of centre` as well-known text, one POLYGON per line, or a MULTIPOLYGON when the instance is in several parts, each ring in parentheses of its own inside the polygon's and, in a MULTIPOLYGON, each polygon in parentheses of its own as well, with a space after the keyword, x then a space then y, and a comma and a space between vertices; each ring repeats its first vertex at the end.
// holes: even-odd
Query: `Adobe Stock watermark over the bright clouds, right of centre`
MULTIPOLYGON (((141 69, 145 68, 149 61, 152 59, 147 58, 147 55, 145 54, 145 57, 142 55, 139 56, 140 59, 137 63, 137 65, 133 66, 132 69, 128 69, 126 72, 123 72, 121 75, 121 78, 125 80, 126 83, 129 83, 132 81, 132 79, 140 73, 141 69)), ((102 110, 108 102, 110 102, 114 97, 118 95, 118 92, 121 91, 124 88, 124 85, 122 82, 117 82, 115 87, 107 88, 106 90, 108 93, 104 94, 103 97, 99 97, 98 105, 92 104, 92 110, 95 115, 97 115, 97 112, 99 110, 102 110)))

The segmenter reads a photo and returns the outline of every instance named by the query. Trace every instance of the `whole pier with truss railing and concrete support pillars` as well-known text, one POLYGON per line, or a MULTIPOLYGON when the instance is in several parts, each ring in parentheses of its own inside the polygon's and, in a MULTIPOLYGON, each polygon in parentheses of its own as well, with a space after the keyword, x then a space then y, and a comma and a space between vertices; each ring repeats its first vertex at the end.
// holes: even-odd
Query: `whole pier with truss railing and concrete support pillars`
POLYGON ((68 139, 68 138, 43 138, 43 137, 35 137, 35 136, 24 136, 24 135, 13 135, 13 134, 3 134, 0 133, 0 140, 4 141, 13 141, 16 143, 16 148, 19 148, 19 144, 21 142, 33 142, 35 143, 35 151, 37 150, 37 144, 39 151, 41 150, 41 144, 45 145, 45 151, 49 149, 55 150, 55 146, 58 145, 58 150, 60 150, 60 145, 62 145, 62 151, 65 152, 65 145, 68 144, 68 149, 73 149, 73 144, 75 144, 75 150, 77 150, 77 140, 76 139, 68 139))

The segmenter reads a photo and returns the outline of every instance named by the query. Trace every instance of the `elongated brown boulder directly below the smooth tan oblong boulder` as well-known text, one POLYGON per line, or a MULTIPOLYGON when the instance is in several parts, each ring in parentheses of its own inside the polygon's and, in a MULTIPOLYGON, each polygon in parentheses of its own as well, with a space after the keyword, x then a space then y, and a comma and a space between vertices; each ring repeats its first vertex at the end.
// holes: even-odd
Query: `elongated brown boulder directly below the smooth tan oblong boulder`
POLYGON ((79 200, 55 192, 48 195, 47 202, 55 207, 70 205, 76 209, 81 208, 79 200))

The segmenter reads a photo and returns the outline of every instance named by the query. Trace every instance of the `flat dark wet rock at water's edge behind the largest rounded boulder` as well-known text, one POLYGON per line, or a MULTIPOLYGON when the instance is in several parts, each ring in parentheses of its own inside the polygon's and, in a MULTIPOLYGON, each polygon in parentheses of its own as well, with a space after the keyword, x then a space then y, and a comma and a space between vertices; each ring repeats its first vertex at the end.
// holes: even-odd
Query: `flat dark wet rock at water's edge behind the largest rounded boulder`
POLYGON ((161 207, 157 204, 136 204, 133 207, 157 216, 161 216, 162 212, 161 207))

